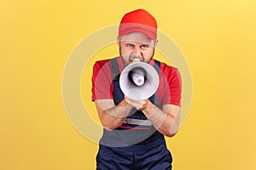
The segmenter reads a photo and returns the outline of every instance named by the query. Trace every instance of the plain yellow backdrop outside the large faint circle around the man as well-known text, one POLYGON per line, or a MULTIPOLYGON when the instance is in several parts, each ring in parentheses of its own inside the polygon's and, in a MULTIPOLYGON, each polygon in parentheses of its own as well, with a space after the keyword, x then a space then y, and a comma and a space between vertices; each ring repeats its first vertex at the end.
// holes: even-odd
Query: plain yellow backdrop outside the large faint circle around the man
POLYGON ((62 73, 84 37, 135 8, 154 14, 193 76, 189 116, 167 139, 174 169, 256 168, 254 0, 2 0, 0 169, 95 169, 97 144, 67 118, 62 73))

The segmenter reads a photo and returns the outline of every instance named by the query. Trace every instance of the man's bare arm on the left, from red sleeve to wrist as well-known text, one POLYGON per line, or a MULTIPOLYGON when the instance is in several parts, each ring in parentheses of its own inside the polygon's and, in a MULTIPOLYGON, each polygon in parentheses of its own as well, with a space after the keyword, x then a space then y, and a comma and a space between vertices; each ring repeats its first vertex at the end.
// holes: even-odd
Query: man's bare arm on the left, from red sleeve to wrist
POLYGON ((114 105, 113 99, 97 99, 95 103, 102 126, 107 130, 113 130, 122 125, 132 109, 125 99, 119 105, 114 105))

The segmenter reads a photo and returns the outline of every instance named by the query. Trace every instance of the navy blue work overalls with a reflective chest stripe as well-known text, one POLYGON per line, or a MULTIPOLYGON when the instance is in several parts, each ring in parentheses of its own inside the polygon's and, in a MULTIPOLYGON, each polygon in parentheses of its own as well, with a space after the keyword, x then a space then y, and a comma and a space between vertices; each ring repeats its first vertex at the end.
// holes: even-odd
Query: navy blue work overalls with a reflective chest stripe
MULTIPOLYGON (((110 60, 113 77, 113 100, 118 105, 124 99, 119 87, 117 59, 110 60)), ((154 68, 160 70, 155 60, 154 68)), ((156 95, 149 98, 160 106, 156 95)), ((166 148, 164 135, 156 131, 142 111, 133 108, 125 122, 113 131, 103 129, 100 147, 96 156, 97 170, 172 169, 172 155, 166 148)))

